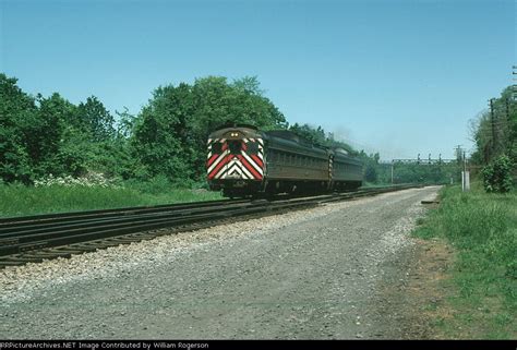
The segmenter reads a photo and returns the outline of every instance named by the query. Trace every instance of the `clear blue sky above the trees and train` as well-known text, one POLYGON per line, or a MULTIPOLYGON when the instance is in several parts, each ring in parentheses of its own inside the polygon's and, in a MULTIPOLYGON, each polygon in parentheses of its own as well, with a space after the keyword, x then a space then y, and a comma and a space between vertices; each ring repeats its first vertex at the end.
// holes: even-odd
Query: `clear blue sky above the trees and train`
POLYGON ((159 85, 256 75, 290 123, 383 159, 452 158, 512 84, 514 1, 0 0, 0 71, 139 112, 159 85))

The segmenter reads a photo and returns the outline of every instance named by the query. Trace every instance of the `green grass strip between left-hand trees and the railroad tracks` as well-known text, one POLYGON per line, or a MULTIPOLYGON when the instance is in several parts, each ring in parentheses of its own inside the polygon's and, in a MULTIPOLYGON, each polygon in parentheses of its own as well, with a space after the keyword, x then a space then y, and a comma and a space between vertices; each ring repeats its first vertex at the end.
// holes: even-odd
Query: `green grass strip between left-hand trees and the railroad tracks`
POLYGON ((0 217, 221 200, 217 192, 157 183, 118 186, 0 185, 0 217))

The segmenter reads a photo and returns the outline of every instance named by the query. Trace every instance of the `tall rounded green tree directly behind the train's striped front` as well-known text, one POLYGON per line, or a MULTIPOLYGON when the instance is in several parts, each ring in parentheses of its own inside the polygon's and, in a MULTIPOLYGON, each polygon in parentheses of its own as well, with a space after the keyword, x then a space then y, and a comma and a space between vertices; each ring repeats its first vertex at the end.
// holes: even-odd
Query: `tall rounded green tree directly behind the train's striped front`
POLYGON ((134 120, 134 155, 151 177, 165 174, 173 182, 201 179, 206 140, 216 128, 228 122, 265 130, 286 124, 261 94, 255 77, 229 84, 225 77, 208 76, 193 86, 160 86, 134 120))

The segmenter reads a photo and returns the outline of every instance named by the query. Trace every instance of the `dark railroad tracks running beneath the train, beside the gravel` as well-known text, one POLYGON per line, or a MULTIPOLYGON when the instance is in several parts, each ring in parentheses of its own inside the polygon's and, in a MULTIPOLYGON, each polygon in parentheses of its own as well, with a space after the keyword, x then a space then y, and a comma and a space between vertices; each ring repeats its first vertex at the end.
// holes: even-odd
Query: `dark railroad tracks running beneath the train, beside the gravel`
POLYGON ((418 185, 312 197, 224 200, 0 219, 0 268, 418 185))

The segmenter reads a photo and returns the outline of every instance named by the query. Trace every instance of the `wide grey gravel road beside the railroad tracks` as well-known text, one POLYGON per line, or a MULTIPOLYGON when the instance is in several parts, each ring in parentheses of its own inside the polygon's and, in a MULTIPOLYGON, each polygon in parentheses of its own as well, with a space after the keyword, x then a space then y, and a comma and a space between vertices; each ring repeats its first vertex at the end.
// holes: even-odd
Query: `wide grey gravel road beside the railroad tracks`
POLYGON ((436 186, 0 270, 0 339, 400 338, 404 285, 436 186))

